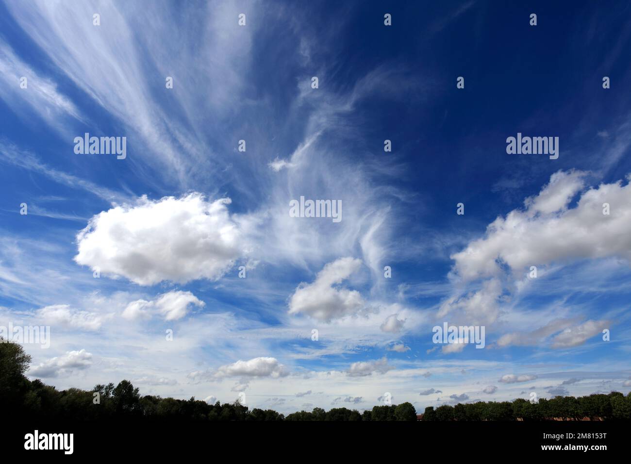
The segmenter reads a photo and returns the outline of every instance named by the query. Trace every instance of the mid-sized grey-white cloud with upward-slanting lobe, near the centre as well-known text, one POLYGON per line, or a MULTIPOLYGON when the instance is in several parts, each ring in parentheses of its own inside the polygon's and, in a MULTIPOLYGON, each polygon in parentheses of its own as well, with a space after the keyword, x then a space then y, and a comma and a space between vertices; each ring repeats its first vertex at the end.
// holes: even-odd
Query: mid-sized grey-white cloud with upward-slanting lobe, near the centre
POLYGON ((357 290, 336 288, 343 280, 359 270, 361 259, 339 258, 328 263, 317 274, 313 283, 301 283, 289 302, 289 314, 307 314, 319 321, 357 314, 365 302, 357 290))

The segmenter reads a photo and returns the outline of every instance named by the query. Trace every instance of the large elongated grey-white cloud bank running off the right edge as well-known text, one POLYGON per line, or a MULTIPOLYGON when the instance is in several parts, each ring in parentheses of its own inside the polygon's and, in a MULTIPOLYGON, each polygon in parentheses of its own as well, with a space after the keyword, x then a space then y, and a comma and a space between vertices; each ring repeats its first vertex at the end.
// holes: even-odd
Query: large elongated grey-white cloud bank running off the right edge
MULTIPOLYGON (((617 181, 589 188, 586 178, 586 172, 577 170, 555 172, 540 193, 526 198, 524 208, 498 217, 484 237, 452 254, 450 277, 461 286, 442 302, 438 316, 451 314, 467 324, 492 324, 502 314, 500 303, 509 299, 512 290, 524 287, 530 266, 611 256, 630 260, 631 235, 626 231, 631 223, 631 175, 626 184, 617 181), (610 215, 603 214, 604 203, 610 205, 610 215), (472 283, 479 288, 470 291, 472 283)), ((553 327, 511 333, 498 345, 538 343, 551 331, 553 327)), ((555 346, 563 343, 560 338, 555 346)))

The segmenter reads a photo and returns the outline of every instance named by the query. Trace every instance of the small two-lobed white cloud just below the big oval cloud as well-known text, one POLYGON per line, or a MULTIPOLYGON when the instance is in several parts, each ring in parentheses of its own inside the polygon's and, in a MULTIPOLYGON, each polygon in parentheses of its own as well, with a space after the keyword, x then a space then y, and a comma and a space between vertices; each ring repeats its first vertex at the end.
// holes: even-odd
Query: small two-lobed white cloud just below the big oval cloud
POLYGON ((155 300, 136 300, 129 303, 122 312, 122 317, 149 319, 153 314, 159 314, 165 321, 175 321, 186 316, 191 304, 204 306, 205 303, 191 292, 172 290, 159 295, 155 300))

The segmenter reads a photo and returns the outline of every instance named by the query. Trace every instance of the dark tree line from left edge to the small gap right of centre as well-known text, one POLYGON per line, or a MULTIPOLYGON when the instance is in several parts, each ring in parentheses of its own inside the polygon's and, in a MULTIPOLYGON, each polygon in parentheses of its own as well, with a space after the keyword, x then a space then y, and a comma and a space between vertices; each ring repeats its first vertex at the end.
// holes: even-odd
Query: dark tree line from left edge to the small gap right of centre
MULTIPOLYGON (((1 337, 0 337, 1 340, 1 337)), ((283 415, 273 409, 250 410, 239 401, 208 404, 189 400, 141 396, 128 381, 97 384, 90 391, 80 388, 57 390, 40 379, 30 381, 24 374, 31 362, 21 345, 0 342, 0 405, 3 411, 18 413, 22 419, 51 420, 416 420, 411 403, 375 406, 363 413, 348 408, 325 411, 314 408, 283 415)))

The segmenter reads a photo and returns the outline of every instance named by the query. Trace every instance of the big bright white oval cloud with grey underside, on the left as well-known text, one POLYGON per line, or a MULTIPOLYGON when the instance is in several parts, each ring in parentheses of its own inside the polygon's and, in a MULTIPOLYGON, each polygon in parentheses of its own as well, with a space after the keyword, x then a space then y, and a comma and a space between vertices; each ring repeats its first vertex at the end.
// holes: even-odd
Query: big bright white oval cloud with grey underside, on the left
POLYGON ((80 265, 126 277, 139 285, 163 280, 216 280, 245 254, 229 198, 199 193, 115 206, 91 218, 77 235, 80 265))

